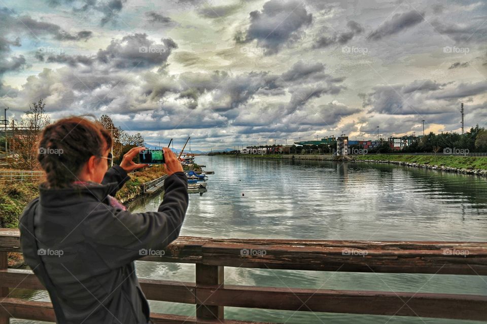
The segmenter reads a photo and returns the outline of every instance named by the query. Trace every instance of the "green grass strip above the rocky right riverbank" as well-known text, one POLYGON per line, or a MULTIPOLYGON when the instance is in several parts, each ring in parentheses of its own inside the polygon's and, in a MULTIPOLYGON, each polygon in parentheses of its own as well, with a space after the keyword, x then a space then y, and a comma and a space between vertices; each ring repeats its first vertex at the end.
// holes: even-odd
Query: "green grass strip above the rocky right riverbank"
POLYGON ((487 157, 484 156, 453 156, 453 155, 403 155, 403 154, 374 154, 357 155, 357 160, 388 160, 409 163, 428 164, 459 169, 487 170, 487 157))

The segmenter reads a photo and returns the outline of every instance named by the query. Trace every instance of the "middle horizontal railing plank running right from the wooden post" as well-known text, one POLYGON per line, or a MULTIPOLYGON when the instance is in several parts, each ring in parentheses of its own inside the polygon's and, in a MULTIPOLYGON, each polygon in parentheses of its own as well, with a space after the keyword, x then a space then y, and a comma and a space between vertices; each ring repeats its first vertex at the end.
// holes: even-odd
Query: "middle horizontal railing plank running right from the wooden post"
POLYGON ((487 320, 487 296, 477 295, 225 285, 198 287, 196 298, 216 306, 487 320))

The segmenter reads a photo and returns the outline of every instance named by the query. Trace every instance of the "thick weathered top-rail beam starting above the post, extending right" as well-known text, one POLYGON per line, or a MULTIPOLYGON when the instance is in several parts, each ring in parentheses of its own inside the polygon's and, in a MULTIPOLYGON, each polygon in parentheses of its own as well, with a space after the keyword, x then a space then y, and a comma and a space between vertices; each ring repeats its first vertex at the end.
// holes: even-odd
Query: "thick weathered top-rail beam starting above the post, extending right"
POLYGON ((208 242, 202 259, 209 265, 264 269, 487 275, 487 244, 398 250, 208 242), (452 254, 457 251, 467 255, 452 254))

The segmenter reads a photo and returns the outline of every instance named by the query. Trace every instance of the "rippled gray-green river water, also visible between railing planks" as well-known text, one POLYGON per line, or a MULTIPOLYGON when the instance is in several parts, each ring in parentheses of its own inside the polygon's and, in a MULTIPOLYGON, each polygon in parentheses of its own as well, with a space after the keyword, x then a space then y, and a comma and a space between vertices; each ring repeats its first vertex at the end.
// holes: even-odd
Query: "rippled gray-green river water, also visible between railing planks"
MULTIPOLYGON (((385 164, 197 156, 207 192, 190 194, 181 235, 330 240, 487 240, 487 180, 385 164)), ((162 194, 132 212, 155 211, 162 194)), ((194 281, 194 264, 136 262, 140 278, 194 281)), ((225 267, 225 283, 309 289, 487 295, 487 276, 225 267)), ((31 299, 44 300, 45 294, 31 299)), ((194 305, 150 301, 195 315, 194 305)), ((286 323, 461 323, 459 320, 225 307, 225 317, 286 323)), ((15 321, 33 323, 32 321, 15 321)), ((464 321, 473 323, 473 321, 464 321)))

